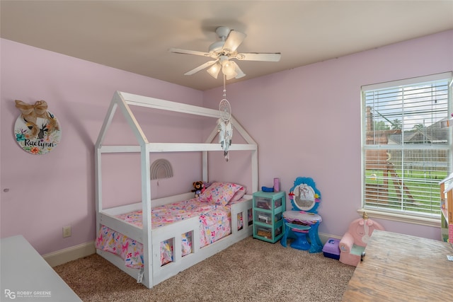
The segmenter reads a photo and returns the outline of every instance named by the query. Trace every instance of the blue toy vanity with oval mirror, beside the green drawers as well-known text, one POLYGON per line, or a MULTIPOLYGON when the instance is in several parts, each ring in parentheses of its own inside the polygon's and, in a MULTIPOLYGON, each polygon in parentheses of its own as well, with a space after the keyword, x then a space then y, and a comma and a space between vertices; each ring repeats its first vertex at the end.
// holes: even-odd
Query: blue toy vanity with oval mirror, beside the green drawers
POLYGON ((296 178, 294 187, 289 190, 292 211, 283 212, 285 231, 280 243, 286 248, 287 238, 295 238, 292 248, 321 252, 323 245, 318 235, 322 218, 318 214, 321 192, 311 178, 296 178))

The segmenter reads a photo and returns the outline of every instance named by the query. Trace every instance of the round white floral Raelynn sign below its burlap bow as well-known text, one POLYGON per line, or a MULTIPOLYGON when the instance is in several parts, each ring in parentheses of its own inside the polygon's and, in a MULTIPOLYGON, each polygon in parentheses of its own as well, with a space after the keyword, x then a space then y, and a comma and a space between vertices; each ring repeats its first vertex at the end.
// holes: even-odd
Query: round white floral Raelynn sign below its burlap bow
POLYGON ((62 137, 57 117, 50 111, 41 116, 30 122, 23 115, 19 115, 14 124, 14 137, 19 146, 28 153, 49 153, 62 137))

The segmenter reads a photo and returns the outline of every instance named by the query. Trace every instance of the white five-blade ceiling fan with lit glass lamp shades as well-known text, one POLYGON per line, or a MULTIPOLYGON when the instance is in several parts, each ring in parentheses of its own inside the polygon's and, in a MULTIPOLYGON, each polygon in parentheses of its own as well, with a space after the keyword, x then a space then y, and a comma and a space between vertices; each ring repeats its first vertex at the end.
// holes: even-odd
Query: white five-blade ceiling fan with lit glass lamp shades
POLYGON ((231 59, 238 59, 239 61, 266 61, 266 62, 278 62, 282 54, 280 52, 275 53, 259 53, 259 52, 243 52, 238 53, 236 49, 241 45, 242 41, 246 38, 245 33, 241 33, 237 30, 230 30, 226 26, 218 27, 215 32, 220 38, 220 41, 214 42, 210 45, 209 52, 197 52, 196 50, 180 50, 178 48, 170 48, 168 51, 176 54, 195 54, 197 56, 210 57, 213 60, 202 64, 195 69, 186 72, 185 76, 201 71, 207 67, 207 72, 217 79, 219 71, 222 69, 222 73, 226 76, 226 79, 240 79, 244 74, 239 68, 236 62, 231 59))

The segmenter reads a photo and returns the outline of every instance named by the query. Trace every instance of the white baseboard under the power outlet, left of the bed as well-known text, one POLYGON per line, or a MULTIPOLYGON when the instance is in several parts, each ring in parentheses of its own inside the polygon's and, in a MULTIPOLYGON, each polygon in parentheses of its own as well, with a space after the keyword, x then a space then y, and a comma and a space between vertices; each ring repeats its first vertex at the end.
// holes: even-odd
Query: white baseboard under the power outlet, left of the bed
POLYGON ((71 246, 70 248, 64 248, 63 250, 57 250, 56 252, 50 252, 42 255, 45 261, 51 266, 62 265, 66 262, 86 257, 96 253, 94 247, 94 241, 87 243, 81 243, 79 245, 71 246))

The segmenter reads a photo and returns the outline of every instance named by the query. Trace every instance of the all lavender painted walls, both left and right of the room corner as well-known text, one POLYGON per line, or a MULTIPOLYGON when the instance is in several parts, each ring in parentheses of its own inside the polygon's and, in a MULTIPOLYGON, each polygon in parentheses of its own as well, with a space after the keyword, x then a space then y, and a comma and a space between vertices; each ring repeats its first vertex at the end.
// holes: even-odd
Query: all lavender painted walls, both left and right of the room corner
MULTIPOLYGON (((94 239, 93 147, 114 91, 210 108, 217 108, 222 97, 222 88, 203 93, 0 41, 1 237, 23 234, 41 254, 94 239), (62 124, 62 142, 54 151, 33 156, 16 144, 16 99, 25 103, 47 101, 62 124), (73 227, 73 236, 63 239, 62 227, 67 225, 73 227)), ((313 177, 323 197, 320 231, 343 235, 360 207, 360 86, 451 71, 452 54, 450 30, 229 85, 227 97, 236 119, 258 142, 260 186, 270 186, 273 178, 279 177, 282 189, 288 190, 297 176, 313 177)), ((144 127, 155 129, 147 117, 139 118, 144 127)), ((156 120, 157 129, 161 129, 153 133, 153 139, 173 135, 190 141, 202 139, 193 120, 159 115, 151 120, 156 120), (175 121, 178 127, 171 126, 175 121)), ((118 121, 113 137, 126 131, 121 123, 118 121)), ((219 158, 217 166, 211 168, 211 179, 239 180, 250 185, 243 176, 248 173, 243 168, 246 156, 231 154, 229 163, 219 158), (226 167, 234 169, 226 172, 226 167), (237 173, 231 172, 234 170, 237 173)), ((117 167, 129 175, 129 171, 135 171, 134 161, 120 161, 117 167)), ((189 165, 199 163, 200 158, 171 158, 171 162, 176 165, 176 176, 161 180, 159 187, 151 182, 154 196, 175 190, 187 192, 186 182, 200 179, 199 166, 189 165)), ((109 192, 127 197, 128 186, 113 181, 109 192)), ((379 222, 389 231, 440 238, 438 228, 379 222)))

